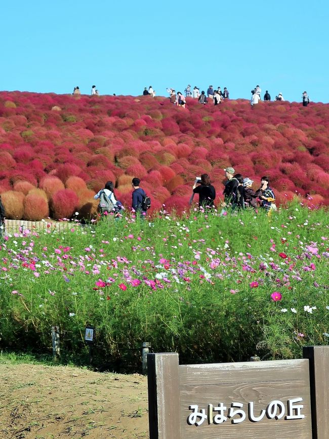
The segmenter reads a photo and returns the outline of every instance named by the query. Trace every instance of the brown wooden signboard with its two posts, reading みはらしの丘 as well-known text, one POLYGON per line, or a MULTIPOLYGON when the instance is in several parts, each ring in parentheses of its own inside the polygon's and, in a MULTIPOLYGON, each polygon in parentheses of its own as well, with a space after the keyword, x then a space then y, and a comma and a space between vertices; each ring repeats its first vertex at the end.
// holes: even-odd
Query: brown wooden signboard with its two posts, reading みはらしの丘
POLYGON ((148 354, 150 439, 328 439, 329 347, 304 356, 179 366, 148 354))

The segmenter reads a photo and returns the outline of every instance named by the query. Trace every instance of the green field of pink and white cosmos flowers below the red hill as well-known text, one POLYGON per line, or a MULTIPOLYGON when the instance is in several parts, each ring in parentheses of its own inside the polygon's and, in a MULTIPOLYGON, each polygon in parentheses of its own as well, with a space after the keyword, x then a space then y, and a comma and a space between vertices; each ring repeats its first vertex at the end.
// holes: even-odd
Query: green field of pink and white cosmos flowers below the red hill
POLYGON ((220 216, 162 207, 147 220, 56 232, 24 230, 0 245, 0 346, 88 352, 138 370, 141 342, 181 361, 300 357, 329 340, 326 211, 298 202, 273 213, 220 216))

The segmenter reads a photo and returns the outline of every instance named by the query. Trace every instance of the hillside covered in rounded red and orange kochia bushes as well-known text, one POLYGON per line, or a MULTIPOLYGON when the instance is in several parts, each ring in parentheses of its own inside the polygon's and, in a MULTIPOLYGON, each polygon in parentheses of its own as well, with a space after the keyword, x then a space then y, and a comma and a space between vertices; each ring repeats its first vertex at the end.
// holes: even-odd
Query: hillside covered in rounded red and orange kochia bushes
POLYGON ((135 176, 152 209, 182 210, 201 173, 220 195, 227 166, 255 188, 268 175, 278 203, 298 195, 328 205, 329 105, 188 99, 184 109, 162 97, 0 93, 0 193, 9 218, 88 215, 108 180, 129 207, 135 176))

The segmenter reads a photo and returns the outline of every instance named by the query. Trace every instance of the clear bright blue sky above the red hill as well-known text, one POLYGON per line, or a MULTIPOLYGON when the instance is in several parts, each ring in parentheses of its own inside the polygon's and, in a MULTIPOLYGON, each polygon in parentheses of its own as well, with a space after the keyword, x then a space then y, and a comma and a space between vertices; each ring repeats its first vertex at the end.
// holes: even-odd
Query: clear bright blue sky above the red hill
POLYGON ((327 0, 4 0, 1 90, 141 94, 227 87, 329 102, 327 0))

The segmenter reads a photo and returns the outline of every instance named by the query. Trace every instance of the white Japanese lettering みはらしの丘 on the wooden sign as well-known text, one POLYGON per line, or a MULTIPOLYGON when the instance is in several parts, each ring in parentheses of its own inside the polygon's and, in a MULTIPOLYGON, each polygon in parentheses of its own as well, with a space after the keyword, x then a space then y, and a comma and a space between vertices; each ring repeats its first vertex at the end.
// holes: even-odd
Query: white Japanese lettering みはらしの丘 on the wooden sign
POLYGON ((187 418, 188 425, 199 426, 203 424, 205 420, 208 424, 222 424, 228 420, 231 420, 232 424, 239 424, 243 422, 247 415, 250 422, 259 422, 264 416, 268 419, 281 419, 284 416, 284 420, 304 419, 305 415, 302 415, 301 411, 304 408, 301 403, 303 398, 297 397, 287 400, 286 407, 281 401, 271 401, 266 409, 262 409, 259 414, 255 414, 254 403, 248 403, 248 408, 243 409, 242 403, 231 403, 231 406, 227 408, 223 403, 218 406, 208 404, 208 410, 206 414, 205 409, 200 409, 198 405, 189 406, 189 410, 192 413, 187 418), (225 414, 226 413, 226 414, 225 414))

